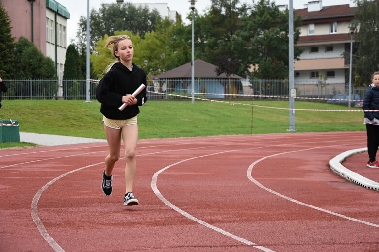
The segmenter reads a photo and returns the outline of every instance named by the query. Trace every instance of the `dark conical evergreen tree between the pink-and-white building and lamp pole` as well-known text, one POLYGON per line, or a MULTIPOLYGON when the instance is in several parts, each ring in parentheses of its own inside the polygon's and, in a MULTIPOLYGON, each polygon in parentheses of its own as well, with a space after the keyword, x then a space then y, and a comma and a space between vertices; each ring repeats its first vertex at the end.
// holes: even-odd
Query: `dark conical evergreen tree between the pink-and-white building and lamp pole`
POLYGON ((82 62, 74 44, 70 44, 66 51, 65 71, 63 79, 81 79, 82 62))

